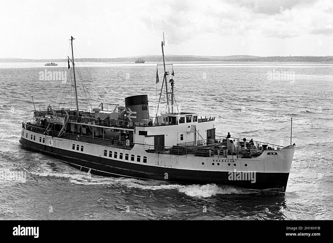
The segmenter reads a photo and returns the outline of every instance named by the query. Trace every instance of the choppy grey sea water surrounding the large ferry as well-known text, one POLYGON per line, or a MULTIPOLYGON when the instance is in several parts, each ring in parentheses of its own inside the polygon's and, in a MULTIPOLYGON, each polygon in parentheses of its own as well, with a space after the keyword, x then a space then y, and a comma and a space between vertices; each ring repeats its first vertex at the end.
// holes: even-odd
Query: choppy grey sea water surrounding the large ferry
MULTIPOLYGON (((28 183, 14 184, 13 187, 3 187, 0 184, 1 203, 5 205, 7 212, 7 216, 0 213, 2 218, 8 219, 8 215, 26 215, 26 218, 31 218, 34 217, 31 212, 42 215, 41 218, 48 217, 43 212, 35 211, 43 206, 45 198, 51 201, 55 198, 52 203, 59 206, 70 205, 71 207, 62 209, 65 215, 73 212, 73 207, 86 207, 85 209, 90 210, 92 214, 103 212, 101 218, 114 215, 113 211, 105 213, 107 208, 96 210, 96 205, 90 204, 91 196, 95 195, 94 203, 97 201, 114 204, 120 201, 123 205, 125 201, 131 207, 145 205, 147 210, 140 212, 142 218, 150 218, 153 210, 154 215, 164 217, 170 207, 172 215, 175 215, 170 218, 187 218, 187 215, 195 215, 193 208, 200 208, 202 201, 209 201, 215 205, 215 209, 222 205, 222 208, 219 208, 219 211, 216 209, 209 218, 220 218, 221 214, 227 214, 234 219, 244 218, 243 215, 246 215, 247 219, 258 218, 253 215, 260 215, 260 219, 308 219, 311 218, 313 208, 327 209, 325 205, 333 200, 327 193, 330 192, 333 182, 330 169, 333 158, 333 88, 332 82, 323 78, 324 74, 328 77, 331 75, 328 64, 318 63, 315 67, 307 69, 286 63, 274 63, 269 66, 248 66, 239 63, 236 66, 223 66, 223 69, 221 66, 211 66, 207 69, 205 64, 184 63, 174 67, 175 74, 177 73, 174 77, 174 91, 179 110, 197 112, 203 117, 216 117, 216 135, 225 136, 230 132, 233 137, 245 136, 257 141, 286 145, 290 141, 290 117, 293 117, 292 142, 296 143, 297 148, 287 193, 284 196, 216 184, 178 185, 161 181, 104 178, 81 172, 48 156, 22 149, 18 137, 21 134, 21 121, 30 119, 33 115, 31 95, 34 96, 35 104, 55 103, 58 106, 63 93, 60 91, 58 100, 55 100, 59 83, 37 80, 39 71, 44 70, 44 63, 6 65, 14 65, 16 69, 13 76, 13 69, 10 67, 1 68, 3 85, 0 87, 0 168, 24 169, 31 180, 28 183), (295 84, 258 83, 258 80, 266 79, 268 69, 279 65, 295 70, 298 74, 295 84), (193 77, 193 73, 198 75, 193 77), (202 73, 207 74, 205 80, 202 79, 202 73), (47 189, 43 190, 44 188, 47 189), (70 192, 66 194, 66 191, 70 192), (121 193, 109 197, 109 193, 114 191, 121 193), (292 192, 292 196, 288 191, 292 192), (25 194, 25 198, 32 201, 38 199, 35 203, 27 200, 20 207, 16 204, 17 199, 8 197, 15 193, 20 196, 25 194), (172 200, 164 202, 165 194, 172 200), (140 200, 135 201, 138 195, 141 196, 140 200), (59 197, 63 202, 58 201, 59 197), (74 206, 73 202, 76 202, 74 206), (223 203, 236 205, 237 210, 223 203)), ((95 104, 101 102, 101 90, 104 92, 103 103, 109 107, 123 103, 124 98, 129 95, 142 93, 148 94, 150 100, 158 100, 157 88, 154 81, 151 82, 156 75, 156 66, 141 66, 134 70, 133 66, 127 64, 113 65, 98 63, 97 66, 88 67, 91 76, 98 82, 96 86, 88 86, 95 104), (130 78, 127 78, 127 73, 131 74, 130 78)), ((90 78, 84 73, 82 76, 83 80, 90 78)), ((82 89, 78 90, 80 107, 90 108, 85 94, 81 92, 82 89)), ((71 103, 71 97, 67 97, 65 101, 66 106, 75 107, 74 101, 71 103)), ((155 111, 155 107, 151 105, 151 114, 155 114, 155 111)), ((47 203, 49 205, 51 202, 47 203)), ((82 211, 86 212, 76 210, 76 214, 85 217, 82 211)), ((330 213, 329 210, 318 210, 321 219, 330 218, 330 213)))

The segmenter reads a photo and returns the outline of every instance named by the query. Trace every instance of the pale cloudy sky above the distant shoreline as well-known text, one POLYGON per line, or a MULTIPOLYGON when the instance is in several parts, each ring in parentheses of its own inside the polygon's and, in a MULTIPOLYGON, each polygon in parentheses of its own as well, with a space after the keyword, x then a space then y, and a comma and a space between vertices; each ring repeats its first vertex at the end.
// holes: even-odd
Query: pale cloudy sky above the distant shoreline
POLYGON ((333 56, 332 0, 2 1, 0 58, 333 56))

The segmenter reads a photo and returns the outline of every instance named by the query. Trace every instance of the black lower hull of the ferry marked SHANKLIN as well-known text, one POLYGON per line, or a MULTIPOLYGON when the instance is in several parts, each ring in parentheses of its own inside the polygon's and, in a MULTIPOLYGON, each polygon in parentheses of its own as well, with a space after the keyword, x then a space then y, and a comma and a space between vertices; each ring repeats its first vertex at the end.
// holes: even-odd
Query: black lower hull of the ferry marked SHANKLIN
POLYGON ((48 156, 65 162, 66 164, 91 174, 106 177, 128 177, 144 180, 168 181, 180 184, 224 184, 241 188, 285 192, 289 173, 257 172, 255 182, 251 180, 230 180, 228 171, 202 171, 164 168, 140 165, 136 163, 110 160, 103 157, 78 153, 60 148, 38 144, 25 138, 20 143, 29 149, 42 152, 48 156))

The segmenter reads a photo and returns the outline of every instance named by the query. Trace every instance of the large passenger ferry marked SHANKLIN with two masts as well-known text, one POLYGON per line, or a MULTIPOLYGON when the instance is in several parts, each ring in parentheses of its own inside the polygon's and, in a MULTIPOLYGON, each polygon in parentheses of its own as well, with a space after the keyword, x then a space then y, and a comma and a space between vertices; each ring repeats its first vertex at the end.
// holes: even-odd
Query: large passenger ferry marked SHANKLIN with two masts
POLYGON ((112 111, 104 109, 103 103, 91 110, 80 109, 74 38, 70 40, 68 63, 74 74, 76 108, 35 109, 33 118, 22 122, 23 146, 94 175, 285 192, 295 144, 283 147, 218 136, 214 116, 179 112, 173 68, 171 74, 166 71, 170 64, 165 63, 164 41, 163 64, 158 64, 164 67, 159 105, 163 93, 166 112, 151 117, 145 94, 125 97, 125 103, 112 111))

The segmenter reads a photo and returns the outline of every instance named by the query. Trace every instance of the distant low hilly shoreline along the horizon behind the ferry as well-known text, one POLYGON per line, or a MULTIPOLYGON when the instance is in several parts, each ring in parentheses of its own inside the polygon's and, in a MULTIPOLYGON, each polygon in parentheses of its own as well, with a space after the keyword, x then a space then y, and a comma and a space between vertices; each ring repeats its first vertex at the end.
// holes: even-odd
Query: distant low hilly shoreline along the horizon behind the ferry
MULTIPOLYGON (((143 58, 146 62, 159 62, 161 56, 119 57, 119 58, 83 58, 83 62, 135 62, 143 58)), ((288 57, 258 57, 258 56, 176 56, 170 55, 171 62, 333 62, 333 56, 288 56, 288 57)), ((0 58, 0 62, 66 62, 67 59, 24 59, 0 58)), ((78 59, 80 62, 81 59, 78 59)))

